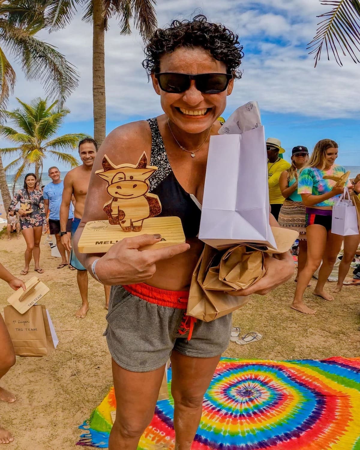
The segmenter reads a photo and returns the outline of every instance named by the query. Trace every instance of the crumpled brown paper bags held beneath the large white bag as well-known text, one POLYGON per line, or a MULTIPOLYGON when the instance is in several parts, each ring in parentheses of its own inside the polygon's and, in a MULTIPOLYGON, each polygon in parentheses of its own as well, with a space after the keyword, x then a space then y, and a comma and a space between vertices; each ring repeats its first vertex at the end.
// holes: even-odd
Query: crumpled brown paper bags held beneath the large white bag
POLYGON ((264 253, 287 252, 299 235, 279 227, 272 227, 272 232, 276 251, 252 243, 220 251, 205 245, 193 272, 186 314, 211 322, 246 305, 248 297, 234 297, 226 292, 237 292, 256 283, 266 272, 264 253))

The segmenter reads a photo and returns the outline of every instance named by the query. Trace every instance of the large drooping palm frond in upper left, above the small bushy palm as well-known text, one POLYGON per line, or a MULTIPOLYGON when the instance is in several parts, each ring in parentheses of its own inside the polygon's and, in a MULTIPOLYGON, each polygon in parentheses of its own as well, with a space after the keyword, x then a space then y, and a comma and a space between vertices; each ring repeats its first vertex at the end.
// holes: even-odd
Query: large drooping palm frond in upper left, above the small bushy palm
POLYGON ((27 79, 39 80, 45 92, 61 104, 78 85, 79 74, 56 47, 27 29, 7 28, 2 34, 9 51, 22 64, 27 79))

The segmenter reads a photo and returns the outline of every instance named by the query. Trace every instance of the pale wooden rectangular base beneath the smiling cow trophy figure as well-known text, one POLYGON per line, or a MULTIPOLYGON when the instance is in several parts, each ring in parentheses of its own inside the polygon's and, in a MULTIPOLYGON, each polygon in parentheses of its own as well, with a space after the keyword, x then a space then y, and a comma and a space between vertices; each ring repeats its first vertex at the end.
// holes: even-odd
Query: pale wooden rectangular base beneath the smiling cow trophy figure
POLYGON ((185 242, 185 235, 179 217, 151 217, 145 219, 141 231, 125 232, 120 225, 110 225, 108 220, 93 220, 85 225, 77 247, 80 253, 106 253, 112 245, 124 238, 141 234, 161 234, 162 240, 148 248, 169 247, 185 242))

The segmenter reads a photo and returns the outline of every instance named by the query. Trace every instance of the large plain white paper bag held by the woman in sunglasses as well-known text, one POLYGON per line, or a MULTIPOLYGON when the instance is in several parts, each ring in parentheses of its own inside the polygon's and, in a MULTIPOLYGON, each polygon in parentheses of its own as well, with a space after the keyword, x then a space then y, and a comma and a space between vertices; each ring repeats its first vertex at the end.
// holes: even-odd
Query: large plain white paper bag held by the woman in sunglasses
POLYGON ((252 242, 276 249, 269 212, 264 127, 211 136, 199 239, 216 248, 252 242))

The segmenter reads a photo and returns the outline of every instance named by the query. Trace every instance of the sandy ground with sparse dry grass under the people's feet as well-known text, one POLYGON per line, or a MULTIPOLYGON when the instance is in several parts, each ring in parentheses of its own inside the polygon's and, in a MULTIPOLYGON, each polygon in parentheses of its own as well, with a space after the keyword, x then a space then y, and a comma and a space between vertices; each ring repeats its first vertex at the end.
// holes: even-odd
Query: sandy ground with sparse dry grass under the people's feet
MULTIPOLYGON (((106 327, 103 287, 90 278, 90 310, 85 319, 76 319, 80 306, 76 272, 56 269, 58 258, 51 257, 49 246, 41 244, 38 275, 50 288, 42 300, 58 333, 58 349, 49 357, 23 358, 1 381, 16 393, 14 404, 1 403, 0 423, 14 434, 14 442, 3 447, 16 450, 78 449, 77 427, 90 416, 112 385, 110 356, 102 333, 106 327), (71 352, 71 353, 70 353, 71 352), (72 367, 78 375, 75 376, 72 367), (85 385, 86 389, 82 386, 85 385)), ((0 261, 20 276, 23 268, 23 237, 11 241, 0 238, 0 261)), ((37 275, 33 271, 23 279, 37 275)), ((315 285, 315 280, 311 281, 315 285)), ((328 284, 332 289, 334 284, 328 284)), ((258 359, 322 359, 330 356, 359 356, 359 287, 344 287, 334 302, 326 302, 306 290, 305 302, 317 310, 314 316, 289 308, 295 286, 293 281, 266 297, 254 295, 247 306, 234 313, 234 326, 242 334, 257 331, 259 342, 246 346, 230 343, 226 356, 258 359)), ((11 289, 1 282, 0 308, 7 305, 11 289)))

